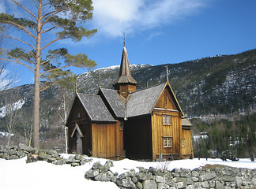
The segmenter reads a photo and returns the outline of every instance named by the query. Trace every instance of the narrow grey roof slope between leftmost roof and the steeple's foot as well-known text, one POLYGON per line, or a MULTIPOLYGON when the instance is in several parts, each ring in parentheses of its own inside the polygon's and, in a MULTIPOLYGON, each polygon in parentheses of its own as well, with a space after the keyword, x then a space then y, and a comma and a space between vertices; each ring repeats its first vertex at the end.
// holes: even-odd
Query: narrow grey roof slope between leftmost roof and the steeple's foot
POLYGON ((100 91, 104 98, 106 98, 108 105, 115 113, 115 117, 125 117, 125 99, 122 98, 117 91, 112 89, 100 88, 100 91))

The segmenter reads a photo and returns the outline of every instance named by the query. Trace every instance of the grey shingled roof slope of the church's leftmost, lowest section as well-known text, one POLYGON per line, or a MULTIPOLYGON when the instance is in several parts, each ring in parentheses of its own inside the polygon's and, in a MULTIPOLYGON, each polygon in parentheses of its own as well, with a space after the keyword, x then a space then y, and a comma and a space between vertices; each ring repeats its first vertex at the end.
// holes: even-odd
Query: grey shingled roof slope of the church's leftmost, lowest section
POLYGON ((77 97, 81 101, 86 113, 88 113, 88 117, 90 117, 92 121, 116 122, 99 95, 77 93, 77 97))

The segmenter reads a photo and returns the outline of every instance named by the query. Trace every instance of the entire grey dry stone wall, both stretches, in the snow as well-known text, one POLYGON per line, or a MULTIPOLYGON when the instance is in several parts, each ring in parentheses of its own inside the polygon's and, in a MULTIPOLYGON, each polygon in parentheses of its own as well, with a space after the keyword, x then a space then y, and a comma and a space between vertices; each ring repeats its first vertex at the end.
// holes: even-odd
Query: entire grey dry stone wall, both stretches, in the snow
MULTIPOLYGON (((65 159, 55 150, 40 150, 21 143, 18 146, 0 146, 0 158, 9 160, 25 156, 28 157, 27 161, 47 161, 55 165, 79 166, 92 161, 91 158, 80 154, 65 159)), ((168 171, 140 167, 139 172, 132 169, 119 175, 118 172, 111 172, 113 166, 113 161, 106 161, 104 165, 98 161, 85 172, 85 179, 114 182, 119 188, 256 188, 256 169, 211 165, 202 169, 168 171)))

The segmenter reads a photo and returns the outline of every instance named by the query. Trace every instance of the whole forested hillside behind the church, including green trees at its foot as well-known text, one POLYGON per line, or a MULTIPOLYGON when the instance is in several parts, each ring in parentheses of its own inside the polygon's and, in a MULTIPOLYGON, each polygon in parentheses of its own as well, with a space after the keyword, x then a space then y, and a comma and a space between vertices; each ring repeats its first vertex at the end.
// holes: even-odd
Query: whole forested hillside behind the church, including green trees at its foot
MULTIPOLYGON (((101 87, 111 88, 119 74, 119 62, 115 64, 117 66, 77 76, 78 92, 96 94, 99 75, 101 87)), ((138 90, 147 87, 147 83, 153 87, 167 80, 166 65, 131 65, 131 72, 137 80, 138 90)), ((233 145, 236 149, 243 146, 247 154, 249 150, 255 150, 256 50, 168 64, 168 76, 183 112, 192 119, 193 134, 208 134, 205 148, 201 149, 217 150, 220 153, 227 150, 228 145, 233 145)), ((53 86, 41 94, 40 135, 46 146, 49 139, 58 139, 58 143, 62 143, 62 118, 64 110, 72 102, 74 88, 73 91, 66 91, 53 86)), ((19 139, 28 140, 24 125, 31 127, 31 119, 25 117, 32 117, 32 89, 32 85, 24 85, 0 93, 0 132, 6 132, 6 103, 19 102, 17 111, 20 118, 16 132, 19 139), (9 98, 13 95, 17 95, 14 102, 9 98)), ((57 146, 62 149, 61 145, 57 146)), ((243 150, 235 152, 242 153, 243 150)), ((196 149, 195 153, 205 152, 196 149)))

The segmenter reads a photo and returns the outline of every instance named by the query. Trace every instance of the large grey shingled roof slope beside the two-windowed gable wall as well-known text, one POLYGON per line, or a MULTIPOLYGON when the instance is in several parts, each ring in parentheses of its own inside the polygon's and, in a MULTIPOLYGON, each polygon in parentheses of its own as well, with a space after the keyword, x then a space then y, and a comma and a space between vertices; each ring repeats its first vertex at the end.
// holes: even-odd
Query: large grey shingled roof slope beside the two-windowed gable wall
POLYGON ((152 112, 166 84, 160 84, 130 95, 126 105, 127 117, 136 117, 152 112))

